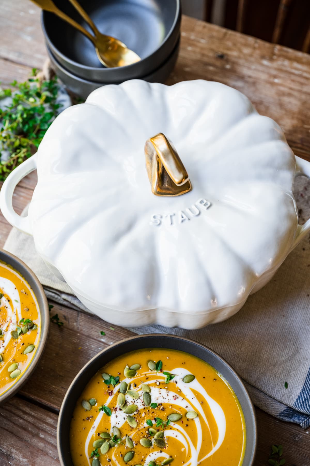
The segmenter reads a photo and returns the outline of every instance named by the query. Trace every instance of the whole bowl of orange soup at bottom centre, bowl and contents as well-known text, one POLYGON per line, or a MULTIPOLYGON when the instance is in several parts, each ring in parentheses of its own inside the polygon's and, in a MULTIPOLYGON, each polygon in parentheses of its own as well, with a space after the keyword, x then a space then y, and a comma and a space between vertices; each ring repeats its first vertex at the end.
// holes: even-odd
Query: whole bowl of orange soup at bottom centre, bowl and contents
POLYGON ((171 335, 116 343, 73 380, 58 420, 62 466, 249 466, 251 399, 204 345, 171 335))

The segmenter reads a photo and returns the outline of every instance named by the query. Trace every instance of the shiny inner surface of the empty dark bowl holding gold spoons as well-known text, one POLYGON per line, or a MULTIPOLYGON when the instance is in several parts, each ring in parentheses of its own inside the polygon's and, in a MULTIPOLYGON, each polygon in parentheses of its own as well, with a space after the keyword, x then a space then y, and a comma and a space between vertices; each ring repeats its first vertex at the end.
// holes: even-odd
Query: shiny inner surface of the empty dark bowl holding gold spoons
MULTIPOLYGON (((55 0, 59 9, 90 31, 70 2, 55 0)), ((99 31, 123 41, 141 59, 151 55, 171 31, 177 0, 80 0, 99 31)), ((46 34, 53 46, 73 62, 103 68, 95 48, 84 35, 53 13, 44 12, 46 34)))

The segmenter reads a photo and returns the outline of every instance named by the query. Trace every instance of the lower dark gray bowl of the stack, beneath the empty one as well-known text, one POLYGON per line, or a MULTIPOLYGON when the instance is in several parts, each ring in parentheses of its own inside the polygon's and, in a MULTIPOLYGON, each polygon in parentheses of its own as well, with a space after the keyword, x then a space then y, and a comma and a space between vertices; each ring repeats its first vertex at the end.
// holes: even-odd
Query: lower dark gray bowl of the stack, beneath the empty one
MULTIPOLYGON (((141 76, 139 79, 143 79, 147 82, 165 82, 178 59, 179 43, 180 41, 178 40, 177 45, 172 51, 171 55, 158 69, 156 69, 149 75, 141 76)), ((70 71, 65 69, 58 62, 57 58, 53 55, 52 51, 50 50, 47 44, 46 48, 56 75, 59 76, 61 81, 66 85, 68 89, 74 92, 74 94, 81 96, 83 99, 86 99, 93 90, 98 89, 101 86, 105 86, 107 84, 120 84, 120 82, 122 82, 94 82, 73 75, 73 73, 70 73, 70 71)))

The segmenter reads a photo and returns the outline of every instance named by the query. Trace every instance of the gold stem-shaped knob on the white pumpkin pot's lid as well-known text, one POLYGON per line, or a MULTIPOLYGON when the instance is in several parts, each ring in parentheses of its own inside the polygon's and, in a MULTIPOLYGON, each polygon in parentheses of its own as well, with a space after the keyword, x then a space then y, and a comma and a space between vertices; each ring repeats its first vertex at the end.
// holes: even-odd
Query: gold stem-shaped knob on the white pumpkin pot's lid
POLYGON ((180 196, 191 191, 185 166, 163 133, 150 137, 145 143, 144 152, 153 194, 180 196))

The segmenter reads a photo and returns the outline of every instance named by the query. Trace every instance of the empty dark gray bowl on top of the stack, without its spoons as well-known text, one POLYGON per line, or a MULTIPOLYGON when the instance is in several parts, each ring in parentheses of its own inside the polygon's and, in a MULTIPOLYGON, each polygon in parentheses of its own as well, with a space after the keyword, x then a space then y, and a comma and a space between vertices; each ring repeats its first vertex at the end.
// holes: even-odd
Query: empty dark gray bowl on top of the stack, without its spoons
MULTIPOLYGON (((69 1, 57 6, 84 27, 69 1)), ((176 47, 181 22, 180 0, 80 0, 100 32, 112 35, 135 51, 141 61, 125 67, 105 68, 89 39, 49 12, 42 13, 46 42, 59 64, 89 81, 117 83, 152 73, 176 47)))

